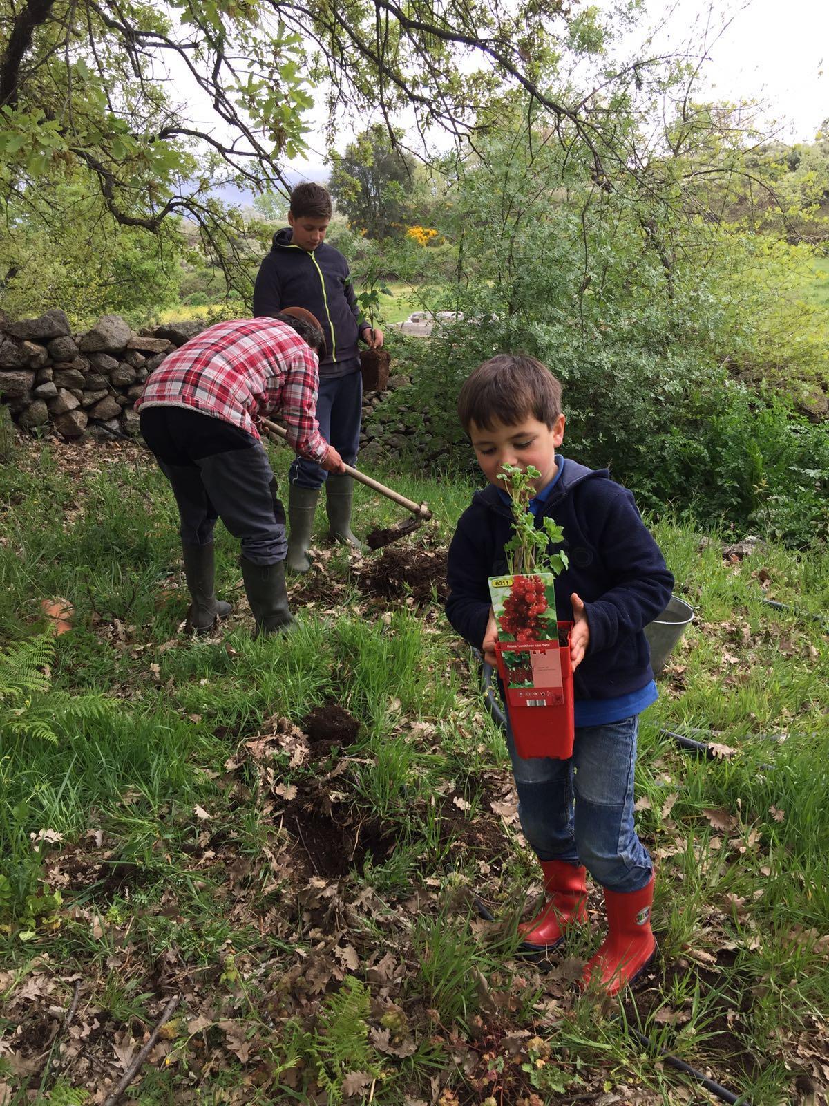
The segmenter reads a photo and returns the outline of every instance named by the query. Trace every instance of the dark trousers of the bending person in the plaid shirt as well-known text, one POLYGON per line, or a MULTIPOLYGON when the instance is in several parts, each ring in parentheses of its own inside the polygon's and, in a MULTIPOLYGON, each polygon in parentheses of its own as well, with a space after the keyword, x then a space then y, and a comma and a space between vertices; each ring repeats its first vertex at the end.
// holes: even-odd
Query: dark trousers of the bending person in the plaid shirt
POLYGON ((253 564, 284 561, 285 511, 262 445, 224 419, 183 407, 148 407, 141 435, 170 481, 185 545, 209 545, 221 519, 253 564))

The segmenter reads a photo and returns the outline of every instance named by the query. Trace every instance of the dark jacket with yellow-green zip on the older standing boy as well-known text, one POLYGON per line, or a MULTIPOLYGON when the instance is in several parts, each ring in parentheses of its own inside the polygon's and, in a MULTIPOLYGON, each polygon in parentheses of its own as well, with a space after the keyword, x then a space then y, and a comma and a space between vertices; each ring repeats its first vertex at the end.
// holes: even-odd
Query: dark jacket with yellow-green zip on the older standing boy
POLYGON ((360 317, 348 262, 322 242, 308 253, 291 241, 290 227, 273 236, 271 252, 259 267, 253 288, 253 314, 275 315, 284 307, 305 307, 319 320, 326 353, 321 376, 342 376, 359 368, 357 337, 368 323, 360 317))

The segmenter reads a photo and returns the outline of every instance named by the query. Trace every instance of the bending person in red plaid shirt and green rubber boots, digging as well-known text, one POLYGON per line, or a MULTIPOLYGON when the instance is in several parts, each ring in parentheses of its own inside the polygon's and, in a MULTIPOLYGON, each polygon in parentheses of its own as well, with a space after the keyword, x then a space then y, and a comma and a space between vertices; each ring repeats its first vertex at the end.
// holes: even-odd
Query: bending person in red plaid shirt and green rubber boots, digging
POLYGON ((273 634, 293 622, 285 589, 285 512, 256 419, 279 414, 301 457, 326 472, 344 471, 316 420, 314 351, 323 345, 319 324, 303 309, 217 323, 166 357, 136 401, 144 440, 178 504, 192 601, 188 628, 197 634, 213 629, 231 609, 213 589, 217 518, 241 541, 256 632, 273 634))

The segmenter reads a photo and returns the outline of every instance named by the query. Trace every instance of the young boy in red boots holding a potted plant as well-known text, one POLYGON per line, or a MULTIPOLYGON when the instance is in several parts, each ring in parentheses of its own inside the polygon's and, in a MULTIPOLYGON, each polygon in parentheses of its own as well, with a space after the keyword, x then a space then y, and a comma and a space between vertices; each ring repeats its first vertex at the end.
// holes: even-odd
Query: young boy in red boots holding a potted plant
POLYGON ((516 565, 515 556, 526 556, 542 538, 552 556, 536 562, 537 570, 559 572, 558 618, 574 623, 576 732, 568 760, 524 760, 507 732, 521 825, 548 896, 521 931, 528 951, 558 947, 567 929, 587 918, 589 870, 605 891, 608 936, 583 985, 616 994, 657 949, 653 866, 633 826, 633 769, 639 714, 657 698, 643 627, 667 606, 673 577, 630 492, 607 470, 556 453, 565 427, 560 398, 558 380, 523 355, 491 358, 461 388, 459 417, 490 487, 475 492, 458 523, 447 616, 494 665, 499 626, 489 578, 532 572, 532 563, 516 565), (532 523, 507 493, 516 487, 526 489, 532 523), (552 543, 562 534, 555 552, 552 543))

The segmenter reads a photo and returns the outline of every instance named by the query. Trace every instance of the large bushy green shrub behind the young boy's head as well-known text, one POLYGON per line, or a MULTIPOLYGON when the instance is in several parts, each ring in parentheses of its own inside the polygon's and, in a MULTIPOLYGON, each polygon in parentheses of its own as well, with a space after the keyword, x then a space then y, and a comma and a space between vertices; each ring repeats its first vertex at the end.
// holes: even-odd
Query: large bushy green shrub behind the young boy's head
POLYGON ((731 513, 808 542, 827 525, 829 455, 816 449, 825 431, 785 403, 764 414, 768 400, 747 385, 785 383, 800 399, 822 383, 826 333, 815 325, 804 344, 787 338, 808 313, 776 285, 774 265, 790 263, 791 248, 712 215, 711 178, 741 173, 739 143, 723 139, 717 111, 693 107, 693 126, 682 111, 668 114, 648 158, 644 121, 620 111, 640 168, 597 174, 591 152, 566 150, 548 117, 522 123, 505 105, 512 128, 479 136, 457 164, 441 229, 458 269, 430 291, 457 319, 420 354, 421 403, 433 428, 444 411, 443 432, 457 436, 460 382, 496 352, 526 351, 564 382, 565 452, 609 466, 651 508, 699 500, 709 519, 731 513))

